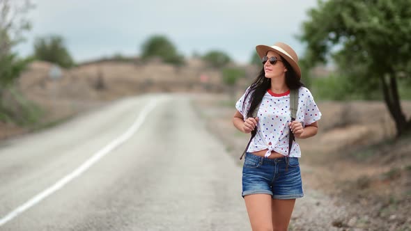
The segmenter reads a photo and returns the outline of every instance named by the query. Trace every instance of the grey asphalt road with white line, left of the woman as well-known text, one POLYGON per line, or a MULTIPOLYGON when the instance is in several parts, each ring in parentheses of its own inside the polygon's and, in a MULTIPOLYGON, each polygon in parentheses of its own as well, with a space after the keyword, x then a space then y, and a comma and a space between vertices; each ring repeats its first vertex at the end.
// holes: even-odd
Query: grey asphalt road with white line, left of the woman
POLYGON ((122 99, 0 143, 0 230, 250 230, 241 168, 188 95, 122 99))

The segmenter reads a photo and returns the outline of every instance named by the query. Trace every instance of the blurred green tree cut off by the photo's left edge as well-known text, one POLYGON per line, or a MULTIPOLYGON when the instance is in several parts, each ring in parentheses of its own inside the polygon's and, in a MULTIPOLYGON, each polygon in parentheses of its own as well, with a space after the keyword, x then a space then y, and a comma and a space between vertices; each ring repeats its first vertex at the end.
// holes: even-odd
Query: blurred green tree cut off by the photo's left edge
POLYGON ((31 29, 26 14, 33 8, 30 1, 0 0, 0 120, 23 123, 31 120, 33 107, 18 90, 15 80, 31 61, 20 58, 13 47, 24 40, 24 32, 31 29))

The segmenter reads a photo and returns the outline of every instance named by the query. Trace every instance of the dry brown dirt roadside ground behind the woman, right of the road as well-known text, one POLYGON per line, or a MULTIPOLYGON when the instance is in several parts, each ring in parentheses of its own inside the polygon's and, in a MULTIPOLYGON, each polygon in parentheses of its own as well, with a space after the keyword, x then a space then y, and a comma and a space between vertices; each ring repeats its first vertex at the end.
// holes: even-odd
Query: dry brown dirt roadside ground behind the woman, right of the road
MULTIPOLYGON (((242 164, 238 157, 249 134, 233 127, 234 104, 227 95, 208 95, 194 102, 210 131, 242 164)), ((411 136, 393 139, 394 122, 382 102, 318 102, 318 106, 323 113, 318 134, 298 142, 304 184, 346 209, 344 216, 329 221, 330 227, 411 230, 411 136)), ((410 117, 411 102, 403 102, 403 110, 410 117)))

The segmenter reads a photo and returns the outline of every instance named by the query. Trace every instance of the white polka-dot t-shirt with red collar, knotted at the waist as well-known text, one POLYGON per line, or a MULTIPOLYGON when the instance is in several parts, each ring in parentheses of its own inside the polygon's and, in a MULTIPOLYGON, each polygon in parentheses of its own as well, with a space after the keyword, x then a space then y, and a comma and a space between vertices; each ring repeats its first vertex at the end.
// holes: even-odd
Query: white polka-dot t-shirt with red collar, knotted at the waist
MULTIPOLYGON (((247 97, 244 108, 245 94, 235 104, 235 108, 242 114, 244 120, 247 119, 250 97, 251 93, 247 97)), ((271 90, 267 90, 257 115, 259 119, 257 134, 251 141, 247 152, 268 149, 265 157, 270 156, 271 151, 288 155, 288 123, 291 120, 290 91, 284 94, 274 94, 271 90)), ((304 122, 304 125, 311 125, 320 118, 321 112, 314 102, 313 95, 307 88, 301 87, 298 91, 298 110, 295 120, 304 122)), ((290 157, 301 157, 300 145, 297 142, 293 142, 290 157)))

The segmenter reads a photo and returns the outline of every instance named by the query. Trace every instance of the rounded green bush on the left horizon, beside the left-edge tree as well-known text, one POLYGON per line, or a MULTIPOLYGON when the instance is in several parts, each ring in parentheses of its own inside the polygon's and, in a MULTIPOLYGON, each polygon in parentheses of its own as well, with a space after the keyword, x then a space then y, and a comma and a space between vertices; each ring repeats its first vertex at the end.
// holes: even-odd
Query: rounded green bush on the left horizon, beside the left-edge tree
POLYGON ((39 60, 56 63, 61 67, 67 68, 74 65, 70 53, 65 48, 64 39, 59 35, 36 38, 34 55, 39 60))

